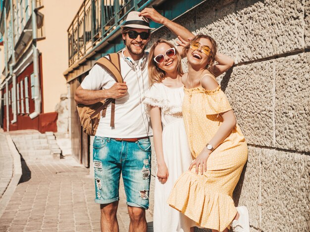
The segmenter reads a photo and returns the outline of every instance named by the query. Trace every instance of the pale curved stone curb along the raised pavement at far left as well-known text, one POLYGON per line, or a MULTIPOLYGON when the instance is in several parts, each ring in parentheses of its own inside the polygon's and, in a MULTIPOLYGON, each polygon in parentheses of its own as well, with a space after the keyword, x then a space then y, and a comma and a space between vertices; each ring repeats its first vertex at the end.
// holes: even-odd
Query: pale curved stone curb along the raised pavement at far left
POLYGON ((16 147, 14 145, 14 142, 9 134, 6 134, 6 141, 8 148, 10 150, 10 154, 13 158, 13 175, 10 180, 10 183, 8 184, 7 188, 5 189, 1 199, 0 199, 0 217, 2 216, 8 202, 11 199, 11 196, 13 192, 15 191, 16 186, 18 185, 18 182, 20 180, 20 177, 22 175, 22 169, 21 169, 21 160, 20 160, 20 154, 16 150, 16 147))

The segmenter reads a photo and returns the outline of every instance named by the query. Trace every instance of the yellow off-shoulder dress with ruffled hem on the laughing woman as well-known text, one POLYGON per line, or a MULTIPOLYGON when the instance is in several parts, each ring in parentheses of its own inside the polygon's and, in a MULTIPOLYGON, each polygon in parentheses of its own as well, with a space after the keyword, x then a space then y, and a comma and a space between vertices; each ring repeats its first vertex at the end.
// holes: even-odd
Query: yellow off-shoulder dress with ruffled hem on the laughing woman
MULTIPOLYGON (((193 159, 212 139, 223 119, 219 113, 231 110, 220 86, 185 89, 182 113, 193 159)), ((242 169, 248 159, 245 138, 236 125, 229 136, 213 150, 207 171, 196 175, 195 167, 183 173, 171 190, 167 203, 194 220, 198 226, 223 231, 237 214, 232 199, 242 169)))

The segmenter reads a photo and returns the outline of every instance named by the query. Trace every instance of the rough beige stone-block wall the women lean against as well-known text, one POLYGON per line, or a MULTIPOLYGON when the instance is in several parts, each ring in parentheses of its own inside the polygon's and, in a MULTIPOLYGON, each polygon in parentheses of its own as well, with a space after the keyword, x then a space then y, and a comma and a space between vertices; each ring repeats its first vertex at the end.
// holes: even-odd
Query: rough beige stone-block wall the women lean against
POLYGON ((310 231, 310 1, 206 0, 175 21, 235 59, 218 81, 249 145, 234 200, 251 231, 310 231))

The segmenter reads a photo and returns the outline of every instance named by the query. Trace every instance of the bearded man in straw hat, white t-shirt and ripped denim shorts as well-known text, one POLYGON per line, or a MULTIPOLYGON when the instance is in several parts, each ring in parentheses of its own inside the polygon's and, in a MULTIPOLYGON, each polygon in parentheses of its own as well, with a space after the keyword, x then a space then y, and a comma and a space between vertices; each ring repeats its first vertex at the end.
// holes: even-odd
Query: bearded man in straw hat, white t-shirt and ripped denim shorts
POLYGON ((75 101, 94 104, 115 98, 115 126, 110 127, 111 105, 101 117, 94 139, 95 202, 101 204, 102 232, 118 232, 116 211, 122 173, 130 216, 129 232, 146 232, 145 209, 149 208, 151 174, 150 122, 142 105, 149 88, 146 46, 151 29, 148 19, 166 25, 183 39, 192 37, 184 27, 161 16, 154 9, 132 11, 122 26, 125 48, 120 67, 124 83, 95 65, 76 90, 75 101), (143 16, 140 16, 144 14, 143 16))

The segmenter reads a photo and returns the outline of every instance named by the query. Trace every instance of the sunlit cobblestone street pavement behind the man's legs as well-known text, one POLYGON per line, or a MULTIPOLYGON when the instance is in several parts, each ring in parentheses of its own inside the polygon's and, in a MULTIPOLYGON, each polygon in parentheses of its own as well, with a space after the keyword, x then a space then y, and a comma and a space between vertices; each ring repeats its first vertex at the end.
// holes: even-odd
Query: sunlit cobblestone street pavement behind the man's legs
MULTIPOLYGON (((100 232, 100 206, 94 202, 89 169, 71 157, 22 159, 22 169, 20 182, 0 218, 0 232, 100 232)), ((123 189, 120 198, 119 229, 127 232, 129 216, 123 189)), ((148 211, 147 221, 152 232, 153 219, 148 211)))

